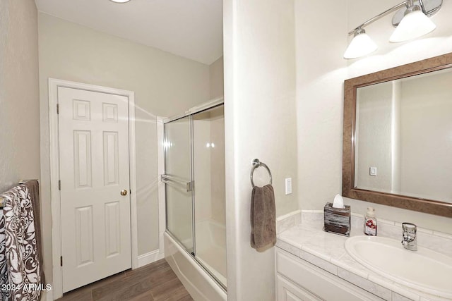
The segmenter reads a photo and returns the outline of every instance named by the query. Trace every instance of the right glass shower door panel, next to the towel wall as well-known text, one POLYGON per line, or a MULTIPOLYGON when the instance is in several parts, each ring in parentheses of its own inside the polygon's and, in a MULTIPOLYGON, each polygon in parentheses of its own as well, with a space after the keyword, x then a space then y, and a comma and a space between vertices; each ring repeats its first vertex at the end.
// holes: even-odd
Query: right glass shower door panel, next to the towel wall
POLYGON ((226 288, 224 106, 195 113, 192 120, 196 259, 226 288))

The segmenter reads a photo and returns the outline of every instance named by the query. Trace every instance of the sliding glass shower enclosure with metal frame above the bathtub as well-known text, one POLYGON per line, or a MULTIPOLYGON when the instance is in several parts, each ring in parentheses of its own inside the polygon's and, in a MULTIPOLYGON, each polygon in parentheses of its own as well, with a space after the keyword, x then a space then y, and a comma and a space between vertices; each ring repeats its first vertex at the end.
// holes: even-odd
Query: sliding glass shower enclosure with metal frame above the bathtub
MULTIPOLYGON (((166 233, 167 239, 171 240, 169 247, 165 241, 165 253, 175 242, 191 259, 190 264, 197 265, 198 269, 201 267, 225 293, 225 115, 222 99, 165 120, 164 130, 165 174, 162 182, 165 183, 166 233)), ((173 269, 186 269, 186 263, 177 262, 180 256, 172 257, 170 261, 174 262, 169 263, 173 263, 173 269)), ((182 274, 189 285, 196 286, 196 277, 191 276, 191 271, 182 271, 182 274)), ((203 284, 198 290, 203 293, 203 284)))

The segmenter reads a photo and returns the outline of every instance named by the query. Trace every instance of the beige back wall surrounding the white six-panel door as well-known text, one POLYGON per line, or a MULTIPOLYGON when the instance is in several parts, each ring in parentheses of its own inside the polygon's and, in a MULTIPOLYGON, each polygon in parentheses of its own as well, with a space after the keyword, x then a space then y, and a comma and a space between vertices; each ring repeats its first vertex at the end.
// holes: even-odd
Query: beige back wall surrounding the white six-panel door
MULTIPOLYGON (((52 262, 48 78, 135 92, 138 254, 158 248, 155 116, 172 116, 210 98, 209 66, 39 14, 44 261, 52 262)), ((47 264, 46 275, 52 274, 47 264)), ((47 278, 49 281, 52 277, 47 278)))

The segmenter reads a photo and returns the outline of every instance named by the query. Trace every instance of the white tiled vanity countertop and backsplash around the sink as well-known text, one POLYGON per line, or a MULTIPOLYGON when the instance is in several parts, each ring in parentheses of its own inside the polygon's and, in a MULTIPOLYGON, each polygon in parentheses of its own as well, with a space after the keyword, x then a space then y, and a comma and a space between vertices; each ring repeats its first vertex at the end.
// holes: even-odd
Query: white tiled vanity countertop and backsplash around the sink
MULTIPOLYGON (((314 264, 314 266, 327 271, 329 274, 337 276, 338 281, 345 280, 348 283, 357 285, 359 288, 383 300, 449 300, 395 283, 356 262, 345 250, 344 242, 347 237, 322 231, 322 211, 302 211, 294 215, 289 215, 288 217, 290 219, 300 219, 302 222, 286 228, 285 231, 281 231, 278 234, 278 242, 276 244, 280 249, 291 253, 285 253, 286 257, 294 255, 292 259, 314 264), (299 218, 295 218, 294 215, 299 215, 299 218)), ((280 223, 279 228, 281 229, 284 228, 283 225, 291 222, 278 219, 278 223, 280 223)), ((362 215, 352 214, 351 223, 350 236, 363 235, 362 215)), ((401 239, 401 223, 379 219, 378 225, 378 236, 396 240, 401 239)), ((417 228, 417 244, 452 257, 452 235, 417 228)))

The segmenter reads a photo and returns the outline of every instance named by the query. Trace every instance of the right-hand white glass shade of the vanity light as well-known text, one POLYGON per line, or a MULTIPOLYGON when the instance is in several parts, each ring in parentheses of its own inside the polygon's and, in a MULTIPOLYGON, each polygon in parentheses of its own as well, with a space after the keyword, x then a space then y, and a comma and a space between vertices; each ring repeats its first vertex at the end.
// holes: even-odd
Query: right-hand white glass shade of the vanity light
POLYGON ((403 42, 427 35, 436 28, 435 23, 425 16, 422 11, 412 11, 403 17, 394 30, 389 42, 403 42))

